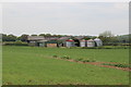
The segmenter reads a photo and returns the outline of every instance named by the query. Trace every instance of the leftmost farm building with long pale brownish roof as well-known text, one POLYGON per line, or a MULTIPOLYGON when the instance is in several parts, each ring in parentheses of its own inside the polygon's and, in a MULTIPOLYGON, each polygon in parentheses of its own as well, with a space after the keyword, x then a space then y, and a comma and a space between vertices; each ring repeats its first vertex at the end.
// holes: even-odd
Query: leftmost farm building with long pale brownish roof
POLYGON ((37 46, 37 47, 45 47, 46 46, 46 39, 43 36, 28 36, 27 42, 29 46, 37 46))

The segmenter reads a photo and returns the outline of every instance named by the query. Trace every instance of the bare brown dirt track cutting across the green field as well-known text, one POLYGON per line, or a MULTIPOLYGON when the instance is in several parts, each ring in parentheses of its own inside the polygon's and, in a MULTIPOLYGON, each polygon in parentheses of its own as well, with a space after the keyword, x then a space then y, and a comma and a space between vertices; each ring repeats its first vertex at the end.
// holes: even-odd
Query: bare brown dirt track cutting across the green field
MULTIPOLYGON (((60 58, 57 58, 57 59, 64 60, 64 59, 60 59, 60 58)), ((111 65, 103 65, 103 63, 120 64, 120 63, 116 63, 116 62, 81 62, 81 61, 75 61, 75 60, 64 60, 64 61, 76 62, 76 63, 81 63, 81 64, 92 64, 92 65, 97 65, 97 66, 102 66, 102 67, 109 67, 109 69, 116 69, 116 70, 131 72, 130 67, 118 67, 118 66, 111 66, 111 65)))

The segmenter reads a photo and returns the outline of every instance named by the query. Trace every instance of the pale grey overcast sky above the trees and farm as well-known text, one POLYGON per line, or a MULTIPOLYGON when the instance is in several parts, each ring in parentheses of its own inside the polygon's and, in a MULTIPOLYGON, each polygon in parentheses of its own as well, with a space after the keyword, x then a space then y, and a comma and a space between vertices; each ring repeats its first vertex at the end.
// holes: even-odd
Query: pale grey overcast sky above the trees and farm
POLYGON ((129 34, 128 2, 8 2, 2 4, 5 34, 129 34))

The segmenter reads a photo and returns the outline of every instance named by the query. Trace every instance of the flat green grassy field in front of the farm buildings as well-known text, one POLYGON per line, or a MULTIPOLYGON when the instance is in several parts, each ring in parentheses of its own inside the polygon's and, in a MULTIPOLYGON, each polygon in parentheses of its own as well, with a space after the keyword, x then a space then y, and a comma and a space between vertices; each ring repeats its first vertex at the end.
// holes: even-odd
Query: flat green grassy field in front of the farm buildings
POLYGON ((129 62, 129 49, 69 49, 3 46, 3 80, 12 85, 128 85, 129 72, 53 59, 94 59, 96 62, 129 62))

